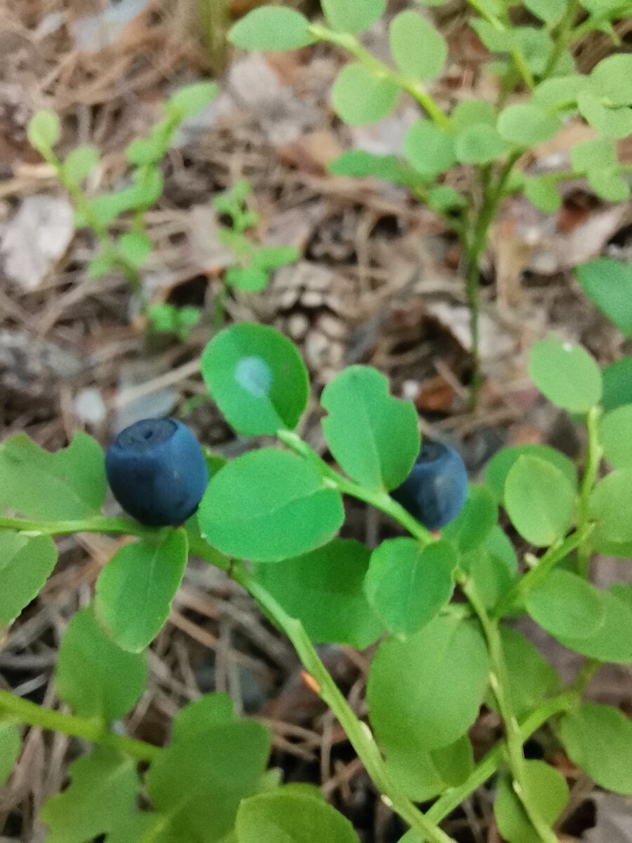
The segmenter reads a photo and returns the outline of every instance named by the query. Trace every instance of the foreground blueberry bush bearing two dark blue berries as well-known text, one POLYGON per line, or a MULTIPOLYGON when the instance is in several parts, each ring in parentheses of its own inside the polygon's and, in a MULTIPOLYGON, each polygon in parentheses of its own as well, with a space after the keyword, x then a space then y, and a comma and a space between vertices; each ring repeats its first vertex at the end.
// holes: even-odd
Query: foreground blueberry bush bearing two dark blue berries
POLYGON ((189 555, 243 586, 292 642, 306 684, 409 827, 402 843, 449 843, 442 820, 487 781, 504 840, 554 843, 567 783, 546 755, 524 752, 543 728, 552 751, 562 747, 598 786, 631 794, 632 723, 582 700, 603 663, 632 662, 632 587, 597 588, 590 578, 595 554, 632 556, 632 399, 629 377, 618 374, 631 361, 602 371, 555 336, 532 348, 534 384, 586 427, 581 475, 553 448, 520 445, 468 483, 458 454, 422 445, 415 407, 365 366, 345 369, 321 395, 332 458, 324 461, 297 434, 309 395, 301 357, 276 330, 249 323, 212 339, 201 373, 238 434, 276 445, 226 462, 173 420, 140 422, 107 455, 83 433, 56 453, 23 434, 8 438, 0 446, 1 626, 46 583, 54 537, 130 537, 62 641, 56 688, 72 713, 0 690, 3 780, 29 725, 94 746, 42 808, 47 840, 358 840, 316 788, 283 784, 266 769, 270 734, 235 717, 225 695, 180 711, 166 746, 126 735, 121 721, 142 694, 147 647, 189 555), (108 480, 127 515, 101 514, 108 480), (378 509, 399 534, 373 550, 340 538, 345 496, 378 509), (526 548, 520 558, 515 545, 526 548), (522 615, 584 658, 570 685, 516 631, 522 615), (319 658, 315 645, 324 642, 372 647, 367 722, 319 658), (503 729, 474 762, 469 729, 484 705, 503 729))

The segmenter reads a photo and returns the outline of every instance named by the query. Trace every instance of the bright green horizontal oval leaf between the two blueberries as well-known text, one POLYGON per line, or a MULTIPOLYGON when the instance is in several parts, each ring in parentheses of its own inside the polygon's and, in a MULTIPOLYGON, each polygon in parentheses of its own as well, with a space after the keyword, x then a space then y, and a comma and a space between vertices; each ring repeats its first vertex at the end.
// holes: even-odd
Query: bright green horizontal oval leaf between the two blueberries
POLYGON ((201 533, 229 556, 276 562, 315 550, 344 520, 340 495, 296 454, 262 448, 212 478, 198 511, 201 533))

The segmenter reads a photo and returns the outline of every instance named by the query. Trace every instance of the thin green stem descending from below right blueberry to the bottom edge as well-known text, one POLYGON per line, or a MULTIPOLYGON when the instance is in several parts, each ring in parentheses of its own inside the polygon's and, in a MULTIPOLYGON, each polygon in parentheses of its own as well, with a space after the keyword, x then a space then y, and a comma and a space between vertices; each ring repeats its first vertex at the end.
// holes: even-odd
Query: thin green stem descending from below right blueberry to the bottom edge
POLYGON ((487 640, 491 665, 490 685, 498 703, 498 709, 501 713, 502 721, 505 726, 506 749, 511 777, 513 780, 513 790, 522 803, 522 806, 540 839, 543 840, 544 843, 557 843, 557 836, 554 835, 553 830, 549 828, 549 825, 546 824, 544 819, 540 816, 538 806, 532 805, 528 799, 525 758, 522 754, 522 732, 511 702, 509 674, 506 668, 505 655, 502 652, 501 634, 498 629, 498 622, 496 620, 492 620, 487 614, 485 605, 479 599, 478 594, 470 583, 463 583, 463 592, 469 599, 470 604, 472 604, 472 608, 476 612, 476 615, 478 615, 480 626, 482 627, 483 632, 485 633, 485 639, 487 640))

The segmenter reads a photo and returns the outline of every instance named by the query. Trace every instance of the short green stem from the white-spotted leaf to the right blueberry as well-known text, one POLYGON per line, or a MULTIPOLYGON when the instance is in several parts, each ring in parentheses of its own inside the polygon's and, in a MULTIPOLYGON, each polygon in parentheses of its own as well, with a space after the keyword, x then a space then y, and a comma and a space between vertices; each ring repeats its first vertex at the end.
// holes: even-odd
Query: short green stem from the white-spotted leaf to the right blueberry
POLYGON ((308 443, 303 442, 303 439, 297 436, 296 433, 288 430, 280 430, 276 433, 276 436, 284 445, 292 448, 292 451, 312 463, 324 481, 331 488, 340 491, 340 494, 356 497, 358 501, 368 503, 370 506, 390 515, 391 518, 394 518, 402 527, 407 529, 411 535, 415 536, 415 539, 421 545, 429 545, 434 541, 430 531, 423 527, 416 518, 413 518, 397 501, 394 501, 386 491, 371 491, 365 489, 359 483, 343 477, 325 463, 324 459, 321 459, 309 447, 308 443))

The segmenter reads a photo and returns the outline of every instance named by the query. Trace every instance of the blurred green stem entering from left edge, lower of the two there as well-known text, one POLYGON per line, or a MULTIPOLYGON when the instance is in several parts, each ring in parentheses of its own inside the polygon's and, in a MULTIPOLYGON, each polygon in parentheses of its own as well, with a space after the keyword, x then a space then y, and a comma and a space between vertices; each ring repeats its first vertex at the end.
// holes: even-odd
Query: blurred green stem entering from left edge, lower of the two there
POLYGON ((61 732, 71 738, 83 738, 94 744, 118 749, 139 761, 155 761, 161 753, 158 746, 147 744, 135 738, 125 738, 109 732, 104 724, 88 717, 73 717, 61 711, 38 706, 35 702, 23 700, 8 690, 0 690, 0 714, 41 729, 61 732))

